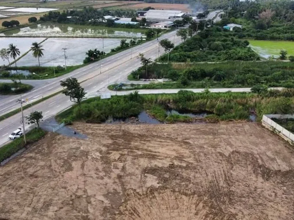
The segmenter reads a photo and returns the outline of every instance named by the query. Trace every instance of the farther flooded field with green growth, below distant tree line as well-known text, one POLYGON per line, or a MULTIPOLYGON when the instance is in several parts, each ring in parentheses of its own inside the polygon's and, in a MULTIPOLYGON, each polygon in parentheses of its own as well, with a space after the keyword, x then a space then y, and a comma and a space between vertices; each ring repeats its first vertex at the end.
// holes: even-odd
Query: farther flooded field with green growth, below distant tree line
POLYGON ((19 37, 128 37, 141 38, 145 30, 73 24, 42 23, 1 33, 19 37))

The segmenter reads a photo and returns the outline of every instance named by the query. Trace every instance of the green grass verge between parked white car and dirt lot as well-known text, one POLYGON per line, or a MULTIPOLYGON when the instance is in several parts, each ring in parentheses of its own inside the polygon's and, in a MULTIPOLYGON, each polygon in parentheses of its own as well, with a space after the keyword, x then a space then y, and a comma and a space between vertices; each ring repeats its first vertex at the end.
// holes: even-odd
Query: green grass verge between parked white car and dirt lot
POLYGON ((45 136, 45 134, 46 134, 46 131, 43 131, 40 128, 34 128, 33 130, 26 133, 26 144, 24 143, 24 138, 21 137, 4 145, 3 147, 0 148, 0 162, 11 157, 17 151, 26 147, 26 145, 39 141, 42 137, 45 136))

